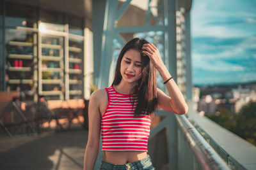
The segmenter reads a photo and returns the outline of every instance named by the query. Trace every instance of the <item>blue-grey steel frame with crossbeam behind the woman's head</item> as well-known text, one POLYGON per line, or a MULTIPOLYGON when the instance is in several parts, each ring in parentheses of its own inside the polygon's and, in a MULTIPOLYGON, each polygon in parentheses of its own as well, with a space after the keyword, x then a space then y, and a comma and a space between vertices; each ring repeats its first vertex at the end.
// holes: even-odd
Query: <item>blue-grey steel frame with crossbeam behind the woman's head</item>
MULTIPOLYGON (((100 59, 100 72, 98 88, 104 88, 109 85, 109 66, 111 64, 113 52, 113 39, 120 38, 120 33, 123 32, 150 32, 150 31, 163 31, 166 41, 164 46, 167 48, 166 54, 168 55, 168 69, 172 74, 175 81, 177 81, 177 57, 176 57, 176 10, 175 0, 164 1, 164 24, 144 25, 144 26, 130 26, 130 27, 116 27, 118 18, 127 9, 131 1, 125 1, 122 6, 117 9, 118 1, 106 1, 106 10, 104 18, 104 31, 102 36, 102 53, 100 59)), ((148 7, 150 8, 150 7, 148 7)), ((95 38, 95 36, 94 36, 95 38)), ((99 40, 99 39, 98 39, 99 40)), ((124 42, 120 42, 121 44, 124 42)), ((99 48, 98 48, 99 49, 99 48)), ((94 49, 95 50, 95 49, 94 49)), ((96 55, 99 52, 96 52, 96 55)), ((99 56, 96 56, 95 64, 99 63, 99 56)), ((97 65, 99 66, 99 65, 97 65)), ((95 68, 97 68, 95 66, 95 68)), ((95 75, 97 74, 97 71, 95 75)), ((97 78, 95 78, 97 79, 97 78)), ((95 80, 97 82, 97 80, 95 80)))

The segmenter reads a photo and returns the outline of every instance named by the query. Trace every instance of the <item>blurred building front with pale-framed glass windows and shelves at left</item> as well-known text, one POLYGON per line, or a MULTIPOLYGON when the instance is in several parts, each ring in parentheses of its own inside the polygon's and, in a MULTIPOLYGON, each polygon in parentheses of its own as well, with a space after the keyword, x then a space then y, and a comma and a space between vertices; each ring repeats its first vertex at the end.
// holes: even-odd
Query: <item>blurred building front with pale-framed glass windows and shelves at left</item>
POLYGON ((90 96, 90 1, 1 1, 0 90, 25 99, 90 96))

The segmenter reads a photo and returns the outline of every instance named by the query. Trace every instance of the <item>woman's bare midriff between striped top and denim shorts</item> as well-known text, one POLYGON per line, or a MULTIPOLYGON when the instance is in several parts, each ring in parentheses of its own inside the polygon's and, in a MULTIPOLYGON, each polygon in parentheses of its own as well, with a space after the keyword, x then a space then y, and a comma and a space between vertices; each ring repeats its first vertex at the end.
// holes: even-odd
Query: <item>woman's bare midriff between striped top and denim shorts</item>
POLYGON ((123 165, 147 158, 145 151, 104 151, 103 160, 111 164, 123 165))

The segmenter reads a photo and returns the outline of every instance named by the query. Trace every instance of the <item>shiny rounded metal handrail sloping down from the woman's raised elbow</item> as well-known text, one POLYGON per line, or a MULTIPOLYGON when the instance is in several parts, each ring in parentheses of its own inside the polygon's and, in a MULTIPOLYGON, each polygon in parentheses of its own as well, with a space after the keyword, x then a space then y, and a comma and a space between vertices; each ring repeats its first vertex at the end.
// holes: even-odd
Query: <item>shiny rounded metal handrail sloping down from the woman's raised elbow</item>
POLYGON ((176 116, 176 118, 177 125, 184 134, 184 139, 188 142, 201 167, 204 169, 230 169, 184 115, 176 116))

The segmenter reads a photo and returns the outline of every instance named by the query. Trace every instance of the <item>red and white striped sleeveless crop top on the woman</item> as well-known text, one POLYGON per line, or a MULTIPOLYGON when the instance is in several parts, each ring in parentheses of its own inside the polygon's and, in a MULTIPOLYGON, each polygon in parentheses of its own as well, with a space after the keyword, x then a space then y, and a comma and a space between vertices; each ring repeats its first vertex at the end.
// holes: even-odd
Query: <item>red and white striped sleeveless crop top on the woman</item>
POLYGON ((151 118, 146 113, 134 117, 138 96, 120 94, 112 86, 105 89, 108 106, 100 124, 102 150, 148 152, 151 118))

